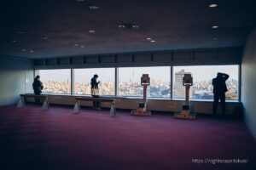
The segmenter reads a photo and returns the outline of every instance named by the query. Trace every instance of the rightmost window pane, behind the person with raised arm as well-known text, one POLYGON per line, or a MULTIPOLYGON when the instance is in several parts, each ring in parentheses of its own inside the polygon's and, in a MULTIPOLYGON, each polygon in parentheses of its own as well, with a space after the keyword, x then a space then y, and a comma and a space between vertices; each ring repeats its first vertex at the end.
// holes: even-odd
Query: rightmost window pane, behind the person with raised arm
POLYGON ((185 88, 182 80, 185 73, 191 73, 194 84, 190 88, 190 99, 213 99, 212 78, 218 72, 230 75, 226 81, 228 92, 226 99, 239 99, 239 66, 238 65, 196 65, 196 66, 174 66, 173 67, 173 98, 184 99, 185 88))

